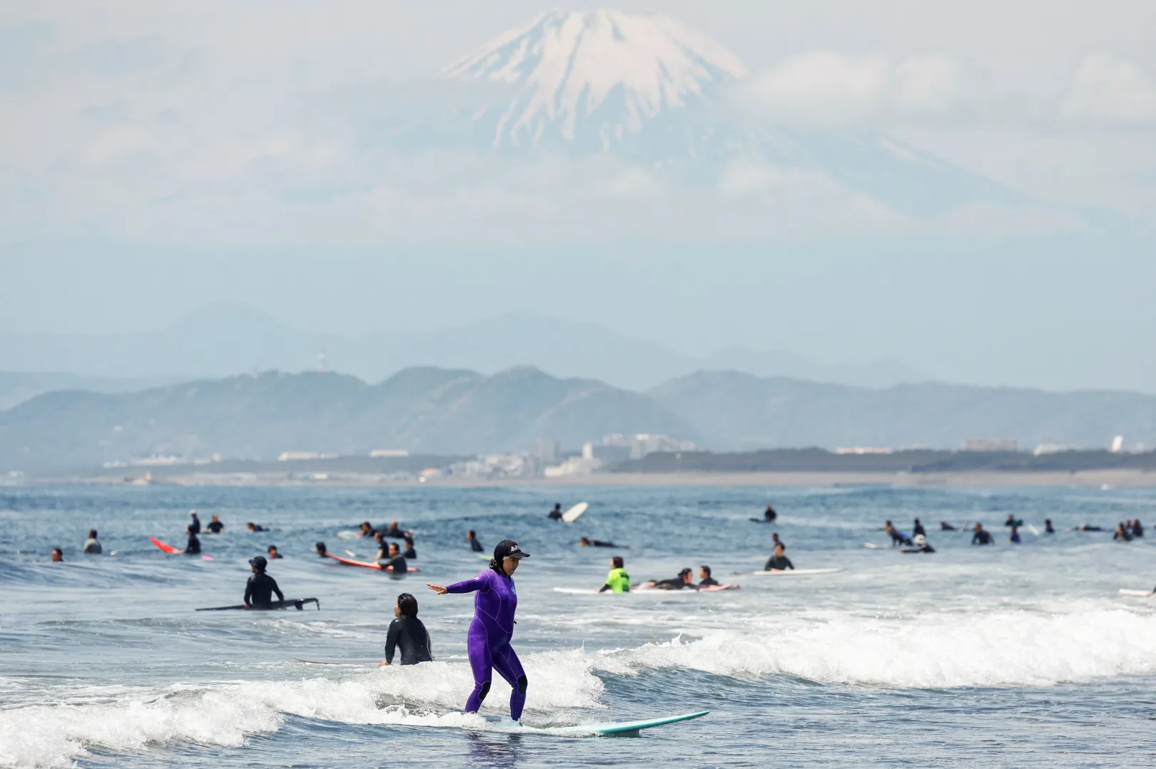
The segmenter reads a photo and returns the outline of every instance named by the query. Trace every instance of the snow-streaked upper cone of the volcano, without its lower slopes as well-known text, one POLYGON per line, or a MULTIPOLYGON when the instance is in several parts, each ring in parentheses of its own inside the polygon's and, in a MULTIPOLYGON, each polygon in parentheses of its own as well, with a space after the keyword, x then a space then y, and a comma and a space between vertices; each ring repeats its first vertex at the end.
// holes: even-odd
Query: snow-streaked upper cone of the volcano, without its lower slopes
POLYGON ((660 15, 551 12, 447 67, 454 80, 505 85, 492 143, 536 145, 580 126, 607 148, 672 107, 702 99, 746 68, 722 45, 660 15))

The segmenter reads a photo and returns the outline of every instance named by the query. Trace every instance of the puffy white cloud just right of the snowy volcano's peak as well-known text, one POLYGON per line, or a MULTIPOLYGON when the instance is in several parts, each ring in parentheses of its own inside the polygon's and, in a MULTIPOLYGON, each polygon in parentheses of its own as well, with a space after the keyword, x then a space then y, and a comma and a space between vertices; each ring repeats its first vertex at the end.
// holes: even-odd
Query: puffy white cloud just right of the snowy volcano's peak
POLYGON ((950 117, 971 90, 963 65, 947 54, 890 59, 817 51, 756 74, 743 96, 778 122, 842 128, 883 119, 950 117))

